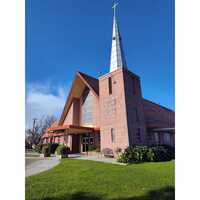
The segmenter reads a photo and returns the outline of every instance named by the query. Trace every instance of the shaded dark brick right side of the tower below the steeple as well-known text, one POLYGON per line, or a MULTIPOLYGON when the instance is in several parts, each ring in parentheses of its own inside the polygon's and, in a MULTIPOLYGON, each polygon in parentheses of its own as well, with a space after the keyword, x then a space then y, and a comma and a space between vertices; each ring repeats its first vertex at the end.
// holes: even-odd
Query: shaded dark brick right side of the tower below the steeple
POLYGON ((140 79, 128 70, 123 71, 129 145, 146 144, 146 124, 140 79))

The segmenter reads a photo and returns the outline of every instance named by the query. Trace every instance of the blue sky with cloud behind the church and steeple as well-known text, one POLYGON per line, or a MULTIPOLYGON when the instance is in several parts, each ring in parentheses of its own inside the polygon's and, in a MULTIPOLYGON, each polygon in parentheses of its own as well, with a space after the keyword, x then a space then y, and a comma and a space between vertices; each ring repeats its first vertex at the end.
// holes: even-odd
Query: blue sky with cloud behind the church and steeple
MULTIPOLYGON (((129 70, 141 77, 145 98, 174 109, 174 0, 118 2, 129 70)), ((109 71, 112 3, 26 0, 27 124, 46 113, 59 116, 76 71, 109 71)))

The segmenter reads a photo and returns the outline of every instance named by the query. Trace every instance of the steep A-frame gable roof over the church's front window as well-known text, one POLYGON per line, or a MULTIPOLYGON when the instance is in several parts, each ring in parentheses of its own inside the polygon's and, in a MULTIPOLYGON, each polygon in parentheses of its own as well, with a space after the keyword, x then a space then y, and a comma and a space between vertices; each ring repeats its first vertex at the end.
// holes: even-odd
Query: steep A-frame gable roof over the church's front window
POLYGON ((87 86, 95 96, 99 96, 99 80, 82 72, 77 72, 72 83, 69 95, 67 97, 63 112, 61 114, 59 125, 63 124, 65 117, 72 104, 72 100, 74 98, 80 97, 85 86, 87 86))

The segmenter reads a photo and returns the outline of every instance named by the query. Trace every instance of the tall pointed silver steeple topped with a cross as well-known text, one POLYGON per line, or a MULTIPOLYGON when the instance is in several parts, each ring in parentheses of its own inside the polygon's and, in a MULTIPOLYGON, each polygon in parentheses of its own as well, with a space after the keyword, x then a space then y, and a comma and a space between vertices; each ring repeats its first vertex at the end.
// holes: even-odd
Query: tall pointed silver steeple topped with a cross
POLYGON ((124 56, 121 36, 119 33, 119 27, 116 19, 116 7, 118 3, 114 3, 114 17, 113 17, 113 34, 112 34, 112 50, 110 58, 110 72, 117 70, 118 68, 127 68, 126 59, 124 56))

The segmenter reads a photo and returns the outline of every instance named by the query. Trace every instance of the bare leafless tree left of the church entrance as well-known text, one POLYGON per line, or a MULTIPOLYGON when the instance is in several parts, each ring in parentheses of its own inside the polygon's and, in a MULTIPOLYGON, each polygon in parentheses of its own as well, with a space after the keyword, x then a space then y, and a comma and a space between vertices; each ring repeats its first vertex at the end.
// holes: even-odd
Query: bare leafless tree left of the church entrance
POLYGON ((42 135, 45 133, 46 129, 48 129, 55 121, 56 117, 49 115, 42 117, 40 120, 33 119, 33 128, 25 130, 25 143, 28 143, 32 148, 35 148, 35 146, 42 142, 42 135))

